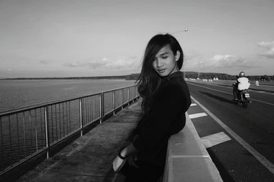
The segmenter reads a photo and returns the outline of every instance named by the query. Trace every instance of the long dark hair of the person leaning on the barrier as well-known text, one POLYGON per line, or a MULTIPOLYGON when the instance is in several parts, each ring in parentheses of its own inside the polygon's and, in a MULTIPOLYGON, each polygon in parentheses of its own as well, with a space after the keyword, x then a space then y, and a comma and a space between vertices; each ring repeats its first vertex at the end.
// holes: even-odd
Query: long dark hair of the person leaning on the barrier
POLYGON ((179 69, 182 68, 184 62, 184 54, 182 47, 179 42, 171 36, 171 34, 158 34, 153 36, 149 40, 147 47, 145 49, 145 55, 142 60, 142 70, 140 76, 138 77, 138 92, 142 96, 142 110, 147 114, 151 107, 151 102, 153 101, 153 96, 156 90, 159 88, 162 77, 155 72, 152 64, 155 55, 169 44, 174 55, 179 51, 181 53, 179 60, 177 61, 177 66, 179 69))

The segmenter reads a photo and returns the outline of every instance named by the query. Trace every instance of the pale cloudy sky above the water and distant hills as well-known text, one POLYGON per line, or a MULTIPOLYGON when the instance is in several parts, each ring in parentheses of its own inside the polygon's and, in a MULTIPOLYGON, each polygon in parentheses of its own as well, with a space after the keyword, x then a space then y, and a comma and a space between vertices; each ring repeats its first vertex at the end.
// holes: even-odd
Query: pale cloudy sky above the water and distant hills
POLYGON ((274 0, 0 0, 0 78, 140 73, 147 42, 166 33, 182 71, 274 75, 273 10, 274 0))

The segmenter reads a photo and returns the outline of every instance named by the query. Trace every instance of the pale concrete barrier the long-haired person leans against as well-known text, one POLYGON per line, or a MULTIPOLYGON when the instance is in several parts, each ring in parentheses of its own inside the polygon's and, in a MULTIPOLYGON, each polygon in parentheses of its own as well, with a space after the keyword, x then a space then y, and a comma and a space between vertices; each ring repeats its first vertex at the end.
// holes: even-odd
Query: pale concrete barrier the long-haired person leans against
POLYGON ((169 138, 163 182, 223 181, 186 114, 186 126, 169 138))

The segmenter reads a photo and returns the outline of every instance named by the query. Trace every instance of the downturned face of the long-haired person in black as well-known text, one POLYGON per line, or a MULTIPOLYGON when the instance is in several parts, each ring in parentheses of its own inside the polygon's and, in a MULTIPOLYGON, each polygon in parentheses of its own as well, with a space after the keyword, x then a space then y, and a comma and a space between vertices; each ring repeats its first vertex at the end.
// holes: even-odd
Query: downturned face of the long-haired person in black
POLYGON ((177 66, 179 56, 180 52, 177 51, 176 55, 174 55, 169 44, 167 44, 155 55, 152 66, 160 77, 169 76, 171 73, 179 70, 177 66))

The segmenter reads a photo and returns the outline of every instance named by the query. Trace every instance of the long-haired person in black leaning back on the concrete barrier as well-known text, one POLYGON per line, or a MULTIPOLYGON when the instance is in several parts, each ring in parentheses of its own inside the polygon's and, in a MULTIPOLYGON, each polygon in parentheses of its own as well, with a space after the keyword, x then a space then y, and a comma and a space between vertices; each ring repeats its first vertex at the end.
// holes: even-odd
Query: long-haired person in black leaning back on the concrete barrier
POLYGON ((184 55, 170 34, 153 36, 145 49, 138 92, 144 115, 132 143, 113 161, 125 181, 158 181, 164 171, 169 137, 183 129, 190 94, 182 68, 184 55))

